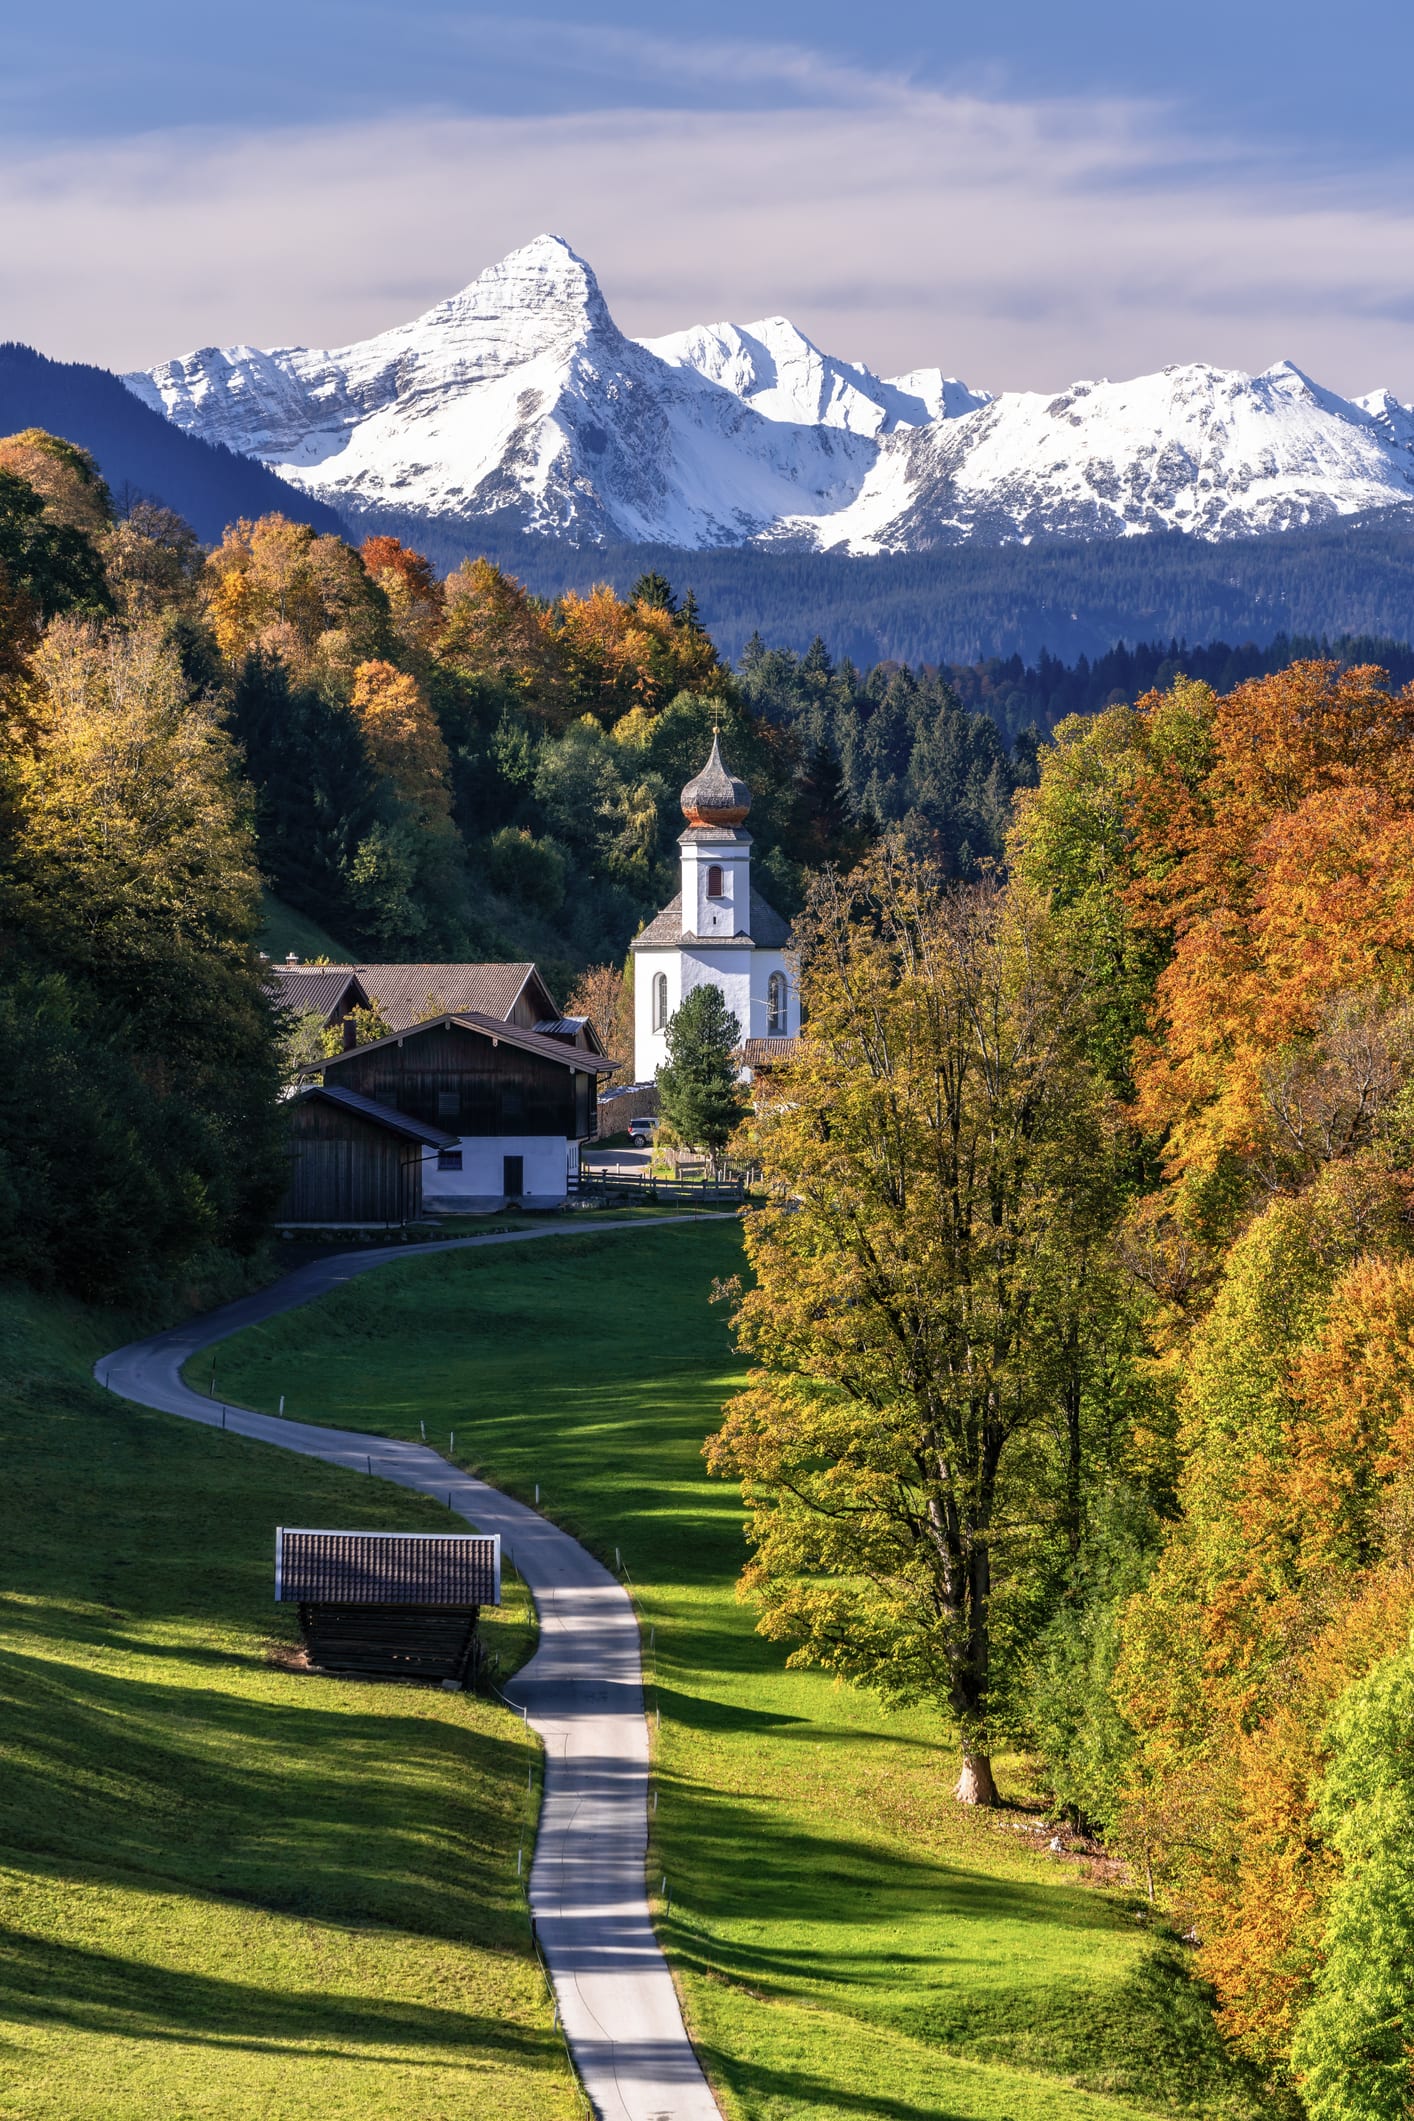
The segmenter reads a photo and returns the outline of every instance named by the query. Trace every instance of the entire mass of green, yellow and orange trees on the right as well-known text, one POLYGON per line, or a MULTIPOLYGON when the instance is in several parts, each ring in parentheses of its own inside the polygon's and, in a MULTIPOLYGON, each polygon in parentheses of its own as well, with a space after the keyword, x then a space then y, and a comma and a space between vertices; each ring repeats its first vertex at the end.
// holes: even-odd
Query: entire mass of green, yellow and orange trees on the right
MULTIPOLYGON (((1272 2115, 1414 2110, 1414 687, 1062 723, 812 887, 710 1444, 767 1635, 1035 1763, 1272 2115)), ((1064 1843, 1051 1843, 1060 1850, 1064 1843)))

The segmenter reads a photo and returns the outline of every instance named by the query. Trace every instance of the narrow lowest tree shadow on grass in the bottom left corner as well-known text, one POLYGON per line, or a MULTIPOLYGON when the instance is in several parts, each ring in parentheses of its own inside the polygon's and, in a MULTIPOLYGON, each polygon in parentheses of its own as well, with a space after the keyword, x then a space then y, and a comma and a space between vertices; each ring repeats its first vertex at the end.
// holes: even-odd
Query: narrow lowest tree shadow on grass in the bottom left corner
MULTIPOLYGON (((420 2068, 479 2070, 488 2055, 558 2072, 560 2040, 469 2011, 388 2002, 379 1996, 288 1992, 151 1966, 0 1926, 0 2017, 61 2023, 129 2040, 184 2040, 252 2051, 299 2049, 358 2062, 379 2047, 420 2047, 420 2068), (475 2053, 466 2053, 473 2049, 475 2053), (462 2059, 458 2062, 458 2051, 462 2059)), ((396 2057, 409 2066, 407 2055, 396 2057)))

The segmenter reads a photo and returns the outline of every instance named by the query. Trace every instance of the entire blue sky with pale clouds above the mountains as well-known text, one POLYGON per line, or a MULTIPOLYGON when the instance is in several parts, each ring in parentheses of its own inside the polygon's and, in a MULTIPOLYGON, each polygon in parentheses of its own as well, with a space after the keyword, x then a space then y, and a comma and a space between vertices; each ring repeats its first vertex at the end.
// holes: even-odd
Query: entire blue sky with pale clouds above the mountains
POLYGON ((532 8, 25 11, 0 333, 337 344, 551 227, 636 333, 784 312, 988 388, 1289 356, 1414 397, 1408 8, 532 8))

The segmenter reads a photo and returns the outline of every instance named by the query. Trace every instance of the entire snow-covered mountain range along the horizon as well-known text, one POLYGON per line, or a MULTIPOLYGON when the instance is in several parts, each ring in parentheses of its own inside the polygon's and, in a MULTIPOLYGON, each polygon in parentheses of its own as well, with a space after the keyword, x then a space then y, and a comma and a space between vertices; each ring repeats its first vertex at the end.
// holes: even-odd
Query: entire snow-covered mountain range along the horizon
POLYGON ((1386 390, 1278 363, 992 399, 878 378, 780 316, 636 341, 555 235, 356 346, 204 348, 125 382, 348 518, 577 543, 1225 539, 1414 507, 1414 409, 1386 390))

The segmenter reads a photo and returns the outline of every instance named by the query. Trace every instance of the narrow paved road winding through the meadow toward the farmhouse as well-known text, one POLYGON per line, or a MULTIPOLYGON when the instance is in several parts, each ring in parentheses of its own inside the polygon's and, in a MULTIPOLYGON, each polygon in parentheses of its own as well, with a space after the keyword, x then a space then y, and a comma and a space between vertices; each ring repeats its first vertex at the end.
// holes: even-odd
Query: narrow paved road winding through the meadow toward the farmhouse
MULTIPOLYGON (((596 1220, 594 1234, 700 1220, 596 1220)), ((197 1349, 392 1260, 564 1234, 562 1228, 498 1230, 316 1260, 257 1296, 104 1355, 93 1374, 138 1406, 218 1427, 220 1400, 182 1383, 182 1364, 197 1349)), ((422 1489, 449 1502, 477 1531, 500 1533, 541 1616, 541 1646, 507 1693, 545 1743, 530 1907, 575 2062, 602 2121, 721 2121, 649 1920, 649 1726, 638 1623, 623 1587, 568 1531, 458 1472, 424 1444, 280 1421, 240 1406, 229 1406, 225 1421, 240 1436, 422 1489)))

